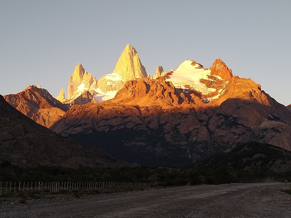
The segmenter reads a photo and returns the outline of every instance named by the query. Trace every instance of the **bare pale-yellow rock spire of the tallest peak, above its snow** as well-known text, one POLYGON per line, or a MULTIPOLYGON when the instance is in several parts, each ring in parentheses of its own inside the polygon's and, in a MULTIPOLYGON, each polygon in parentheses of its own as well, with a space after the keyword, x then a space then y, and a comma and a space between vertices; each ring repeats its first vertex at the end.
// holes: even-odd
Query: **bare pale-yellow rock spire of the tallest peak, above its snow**
POLYGON ((113 73, 117 73, 124 81, 147 77, 146 68, 141 64, 135 48, 127 44, 116 63, 113 73))

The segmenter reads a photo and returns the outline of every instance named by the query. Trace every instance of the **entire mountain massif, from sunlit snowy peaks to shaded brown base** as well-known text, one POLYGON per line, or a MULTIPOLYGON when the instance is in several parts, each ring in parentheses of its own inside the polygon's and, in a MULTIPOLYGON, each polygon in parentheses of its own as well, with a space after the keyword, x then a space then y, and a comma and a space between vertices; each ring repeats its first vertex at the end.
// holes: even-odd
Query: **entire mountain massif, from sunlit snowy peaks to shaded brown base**
MULTIPOLYGON (((67 97, 63 89, 54 98, 34 85, 3 97, 63 141, 73 139, 89 146, 82 158, 90 149, 102 148, 112 158, 129 163, 180 167, 248 142, 291 150, 288 107, 251 79, 233 75, 220 59, 209 68, 194 60, 170 71, 157 66, 155 74, 149 75, 128 44, 113 72, 100 79, 78 64, 69 79, 67 97)), ((15 132, 19 126, 14 125, 15 132)), ((4 131, 0 145, 8 149, 19 137, 4 131)), ((27 153, 33 156, 33 150, 27 153)), ((24 157, 18 160, 7 152, 2 158, 19 164, 24 157)))

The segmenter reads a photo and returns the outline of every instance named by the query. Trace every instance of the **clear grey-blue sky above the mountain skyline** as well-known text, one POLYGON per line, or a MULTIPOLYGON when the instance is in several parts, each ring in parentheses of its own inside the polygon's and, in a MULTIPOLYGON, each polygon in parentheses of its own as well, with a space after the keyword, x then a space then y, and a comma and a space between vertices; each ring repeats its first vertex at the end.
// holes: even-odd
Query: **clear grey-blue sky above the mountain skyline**
POLYGON ((0 94, 41 85, 53 96, 80 62, 97 79, 126 44, 147 73, 222 59, 291 103, 291 1, 1 1, 0 94))

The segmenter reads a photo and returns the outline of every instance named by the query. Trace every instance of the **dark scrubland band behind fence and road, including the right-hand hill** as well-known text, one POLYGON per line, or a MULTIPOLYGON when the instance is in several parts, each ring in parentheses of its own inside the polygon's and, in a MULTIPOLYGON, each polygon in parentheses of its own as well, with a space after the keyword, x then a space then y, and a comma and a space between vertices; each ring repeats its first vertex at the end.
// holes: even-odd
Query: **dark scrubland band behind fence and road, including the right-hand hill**
POLYGON ((248 143, 184 168, 137 166, 76 169, 0 164, 0 181, 159 182, 162 186, 291 181, 290 152, 260 143, 248 143))

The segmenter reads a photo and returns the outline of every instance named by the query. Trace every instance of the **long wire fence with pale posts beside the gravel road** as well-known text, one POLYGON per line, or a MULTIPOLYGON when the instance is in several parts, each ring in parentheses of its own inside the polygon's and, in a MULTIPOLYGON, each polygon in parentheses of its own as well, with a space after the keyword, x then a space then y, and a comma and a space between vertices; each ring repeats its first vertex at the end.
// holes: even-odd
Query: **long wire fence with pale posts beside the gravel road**
POLYGON ((132 182, 1 182, 0 195, 6 193, 15 193, 29 190, 47 190, 49 192, 58 192, 60 190, 78 190, 78 189, 103 189, 119 187, 155 187, 158 182, 132 183, 132 182))

